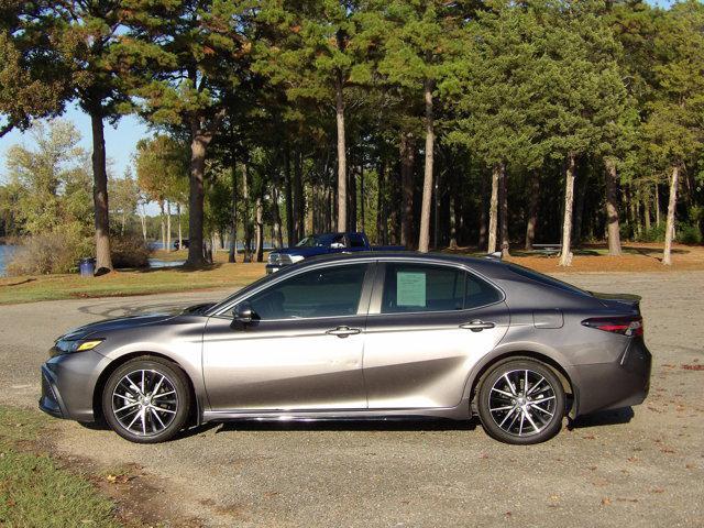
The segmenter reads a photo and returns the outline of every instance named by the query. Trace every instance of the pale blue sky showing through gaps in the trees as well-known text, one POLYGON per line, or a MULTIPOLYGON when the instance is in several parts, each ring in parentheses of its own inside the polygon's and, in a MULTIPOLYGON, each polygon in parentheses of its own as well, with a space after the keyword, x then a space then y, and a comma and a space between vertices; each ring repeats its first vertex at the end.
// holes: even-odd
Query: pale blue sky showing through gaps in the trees
MULTIPOLYGON (((652 6, 667 7, 672 0, 650 0, 652 6)), ((68 106, 63 119, 73 121, 82 136, 81 145, 87 152, 91 151, 90 145, 90 119, 75 106, 68 106)), ((111 164, 111 173, 122 176, 124 169, 132 164, 132 156, 136 142, 150 135, 148 128, 142 120, 134 116, 127 116, 118 122, 118 127, 112 128, 106 124, 106 150, 111 164)), ((12 131, 0 139, 0 180, 4 179, 7 172, 6 153, 8 147, 16 143, 25 143, 31 146, 31 139, 19 131, 12 131)))

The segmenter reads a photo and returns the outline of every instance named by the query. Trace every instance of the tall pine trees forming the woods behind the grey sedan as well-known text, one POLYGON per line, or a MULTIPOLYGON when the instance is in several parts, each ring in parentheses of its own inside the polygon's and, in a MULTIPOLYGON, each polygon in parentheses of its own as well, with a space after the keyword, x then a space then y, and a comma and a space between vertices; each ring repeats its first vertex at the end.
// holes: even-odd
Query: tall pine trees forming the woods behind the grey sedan
POLYGON ((157 132, 138 180, 187 210, 194 267, 204 233, 261 248, 265 226, 278 244, 364 229, 424 252, 538 239, 561 242, 562 265, 586 239, 617 255, 622 237, 661 237, 664 264, 675 235, 701 241, 695 0, 4 1, 0 15, 0 134, 69 101, 91 118, 99 267, 103 128, 125 113, 157 132))

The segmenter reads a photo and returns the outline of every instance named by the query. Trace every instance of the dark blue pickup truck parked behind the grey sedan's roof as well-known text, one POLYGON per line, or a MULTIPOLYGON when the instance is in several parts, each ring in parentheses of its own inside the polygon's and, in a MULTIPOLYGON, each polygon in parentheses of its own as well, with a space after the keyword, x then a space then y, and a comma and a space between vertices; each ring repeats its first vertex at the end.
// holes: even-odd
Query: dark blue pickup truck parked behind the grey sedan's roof
POLYGON ((267 275, 317 255, 330 253, 351 253, 354 251, 400 251, 402 245, 372 246, 366 234, 356 233, 323 233, 306 237, 293 248, 282 248, 272 251, 266 263, 267 275))

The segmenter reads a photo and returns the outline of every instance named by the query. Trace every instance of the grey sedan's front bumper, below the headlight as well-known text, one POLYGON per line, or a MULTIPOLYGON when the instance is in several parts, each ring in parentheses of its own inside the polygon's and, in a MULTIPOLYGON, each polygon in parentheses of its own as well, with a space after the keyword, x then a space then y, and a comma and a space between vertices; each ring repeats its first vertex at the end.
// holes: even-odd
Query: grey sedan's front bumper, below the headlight
POLYGON ((94 351, 57 355, 42 365, 40 409, 56 418, 94 421, 94 391, 109 363, 94 351))

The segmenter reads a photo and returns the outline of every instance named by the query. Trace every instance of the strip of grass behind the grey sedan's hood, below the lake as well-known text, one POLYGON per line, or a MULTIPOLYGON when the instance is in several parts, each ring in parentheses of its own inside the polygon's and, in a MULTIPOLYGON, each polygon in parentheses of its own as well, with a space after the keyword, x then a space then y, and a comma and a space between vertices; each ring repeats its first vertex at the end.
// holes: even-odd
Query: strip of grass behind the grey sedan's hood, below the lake
POLYGON ((238 289, 264 275, 263 263, 218 263, 207 270, 183 267, 116 272, 101 277, 45 275, 0 278, 0 305, 81 297, 122 297, 196 289, 238 289))

